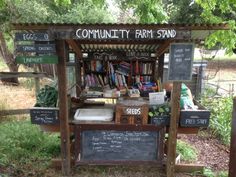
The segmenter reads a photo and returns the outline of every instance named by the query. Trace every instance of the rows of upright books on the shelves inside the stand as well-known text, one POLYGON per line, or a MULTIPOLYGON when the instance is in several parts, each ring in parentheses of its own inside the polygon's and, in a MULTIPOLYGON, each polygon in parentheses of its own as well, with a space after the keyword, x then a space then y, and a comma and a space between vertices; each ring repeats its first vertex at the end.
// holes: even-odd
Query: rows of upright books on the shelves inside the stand
POLYGON ((127 88, 127 83, 137 84, 142 82, 151 82, 152 77, 152 63, 139 63, 130 64, 129 62, 122 61, 119 63, 107 62, 106 75, 104 73, 104 68, 102 61, 91 60, 86 62, 87 69, 85 71, 96 71, 98 73, 87 73, 85 76, 86 86, 105 86, 110 85, 111 88, 127 88), (131 77, 130 73, 132 69, 138 70, 137 75, 133 74, 131 77), (142 73, 142 74, 140 74, 142 73), (148 75, 148 76, 145 76, 148 75), (150 75, 150 76, 149 76, 150 75), (132 80, 131 80, 132 79, 132 80), (128 82, 129 81, 129 82, 128 82))

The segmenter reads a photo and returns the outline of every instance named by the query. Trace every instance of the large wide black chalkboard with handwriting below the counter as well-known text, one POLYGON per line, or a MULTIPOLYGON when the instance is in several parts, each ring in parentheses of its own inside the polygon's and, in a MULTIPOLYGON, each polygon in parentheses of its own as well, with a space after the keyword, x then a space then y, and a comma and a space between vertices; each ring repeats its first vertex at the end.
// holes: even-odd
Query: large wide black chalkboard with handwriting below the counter
POLYGON ((81 160, 157 160, 158 138, 155 131, 83 131, 81 160))

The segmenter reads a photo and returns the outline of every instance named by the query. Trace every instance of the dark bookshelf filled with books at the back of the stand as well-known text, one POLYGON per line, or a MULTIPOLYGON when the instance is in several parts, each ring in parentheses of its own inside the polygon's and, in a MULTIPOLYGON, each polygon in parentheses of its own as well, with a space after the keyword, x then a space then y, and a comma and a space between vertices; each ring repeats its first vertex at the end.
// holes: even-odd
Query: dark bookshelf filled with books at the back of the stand
POLYGON ((146 83, 150 88, 155 86, 156 60, 154 58, 140 59, 124 57, 124 55, 117 57, 112 55, 110 58, 104 53, 101 55, 96 53, 94 57, 88 54, 90 57, 83 59, 84 87, 109 87, 122 90, 143 86, 146 83))

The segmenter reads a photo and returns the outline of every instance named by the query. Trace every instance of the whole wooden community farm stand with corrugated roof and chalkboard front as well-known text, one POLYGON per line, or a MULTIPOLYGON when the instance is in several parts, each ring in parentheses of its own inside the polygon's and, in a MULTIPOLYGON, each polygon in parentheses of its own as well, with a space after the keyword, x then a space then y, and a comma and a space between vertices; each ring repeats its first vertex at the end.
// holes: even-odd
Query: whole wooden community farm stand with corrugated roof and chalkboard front
MULTIPOLYGON (((107 62, 123 60, 132 66, 135 66, 136 63, 144 67, 148 66, 151 68, 151 73, 141 74, 143 74, 143 77, 148 76, 146 78, 156 81, 157 78, 163 78, 164 54, 168 52, 170 45, 173 43, 202 44, 204 39, 214 31, 228 29, 227 25, 13 24, 12 28, 16 32, 16 41, 33 41, 33 45, 36 46, 34 48, 30 48, 29 46, 28 48, 27 46, 17 46, 18 53, 16 60, 18 63, 56 63, 57 65, 60 124, 41 125, 41 127, 46 131, 60 131, 61 166, 62 172, 65 175, 70 174, 71 164, 152 164, 160 167, 166 165, 168 177, 174 176, 175 170, 186 169, 186 166, 177 166, 175 164, 176 137, 178 133, 197 133, 199 126, 179 127, 181 81, 185 79, 173 79, 172 109, 170 125, 168 127, 164 125, 143 124, 140 122, 133 122, 132 124, 115 123, 114 119, 111 122, 76 121, 73 120, 75 110, 70 107, 70 102, 68 102, 70 97, 68 99, 66 67, 69 63, 75 68, 77 97, 81 96, 81 91, 84 89, 86 82, 87 65, 86 59, 84 59, 84 53, 88 54, 88 58, 90 55, 92 57, 98 57, 98 60, 103 66, 109 66, 107 62), (55 48, 52 47, 52 44, 55 44, 55 48), (39 45, 47 45, 48 48, 43 48, 43 46, 40 47, 39 45), (24 55, 32 51, 36 54, 40 54, 40 50, 44 50, 44 52, 41 52, 44 53, 44 55, 35 55, 34 57, 32 57, 32 55, 24 55), (75 54, 74 62, 69 62, 69 52, 75 54), (151 55, 153 55, 154 58, 151 58, 151 55), (148 62, 150 64, 148 64, 148 62), (168 151, 167 159, 164 162, 165 133, 168 134, 168 151), (71 135, 74 135, 75 141, 71 141, 71 135), (126 140, 122 139, 122 143, 126 141, 126 145, 124 149, 122 149, 123 151, 121 150, 125 155, 118 157, 115 152, 112 152, 113 154, 108 157, 108 160, 103 159, 101 154, 95 154, 95 159, 87 156, 87 151, 93 151, 89 141, 95 141, 94 139, 96 138, 99 139, 100 135, 103 136, 103 138, 113 138, 114 140, 117 138, 116 135, 119 136, 119 138, 121 138, 121 136, 127 136, 126 140), (129 148, 132 148, 129 140, 135 138, 136 140, 134 140, 134 142, 136 141, 137 143, 137 141, 139 141, 140 149, 138 149, 138 145, 136 144, 134 145, 134 152, 137 151, 139 154, 135 155, 131 153, 131 159, 129 159, 127 156, 130 154, 127 154, 127 152, 129 148), (142 144, 142 142, 144 143, 142 144), (148 158, 146 159, 145 155, 141 156, 140 154, 146 153, 143 149, 148 147, 148 143, 155 145, 155 147, 150 148, 150 151, 154 149, 155 156, 147 153, 149 155, 147 155, 148 158), (146 144, 146 146, 144 146, 144 144, 146 144), (111 157, 113 155, 114 158, 112 159, 111 157), (137 159, 135 159, 135 156, 137 156, 137 159)), ((92 67, 92 65, 90 65, 90 67, 92 67)), ((187 67, 186 72, 187 71, 190 71, 191 75, 191 68, 187 67)), ((132 75, 135 75, 135 72, 130 72, 130 76, 128 76, 127 79, 128 86, 132 85, 132 75)), ((139 101, 140 99, 134 100, 139 101)), ((117 112, 115 114, 117 114, 117 112)), ((147 111, 145 114, 147 114, 147 111)), ((142 119, 142 116, 141 114, 139 118, 142 119)), ((145 116, 147 117, 147 115, 145 116)), ((110 143, 108 140, 104 140, 104 142, 105 144, 110 143)), ((102 146, 99 146, 99 148, 101 147, 102 146)), ((103 150, 105 152, 109 151, 106 149, 103 150)), ((106 156, 106 154, 104 154, 104 156, 106 156)))

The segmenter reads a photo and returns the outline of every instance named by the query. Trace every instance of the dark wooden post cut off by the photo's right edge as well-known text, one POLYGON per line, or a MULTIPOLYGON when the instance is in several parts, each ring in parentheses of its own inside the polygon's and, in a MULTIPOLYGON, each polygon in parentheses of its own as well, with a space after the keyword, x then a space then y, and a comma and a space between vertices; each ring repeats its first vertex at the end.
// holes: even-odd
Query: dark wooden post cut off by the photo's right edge
POLYGON ((233 117, 230 143, 229 177, 236 176, 236 97, 233 100, 233 117))

